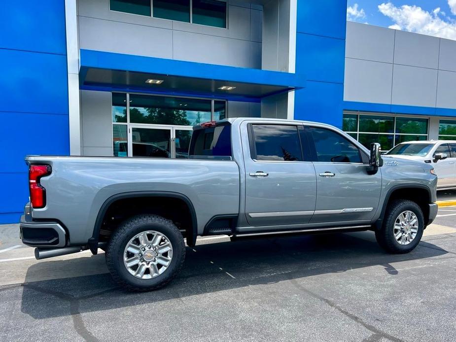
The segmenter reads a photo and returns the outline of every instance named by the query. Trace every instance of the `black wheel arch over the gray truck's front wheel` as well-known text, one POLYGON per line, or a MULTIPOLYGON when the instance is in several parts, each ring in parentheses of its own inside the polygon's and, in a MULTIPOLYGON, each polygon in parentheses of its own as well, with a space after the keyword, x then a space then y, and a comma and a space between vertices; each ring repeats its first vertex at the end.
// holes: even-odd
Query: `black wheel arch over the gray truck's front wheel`
POLYGON ((422 185, 422 184, 403 184, 403 185, 395 185, 391 187, 388 192, 386 193, 385 200, 382 205, 382 211, 380 212, 380 216, 374 224, 376 230, 382 228, 383 220, 385 218, 386 208, 389 205, 390 201, 394 199, 404 199, 404 200, 411 200, 417 203, 423 212, 424 219, 427 225, 427 218, 429 217, 429 206, 428 204, 431 203, 432 195, 431 189, 429 187, 422 185), (407 191, 409 193, 407 193, 407 191), (417 201, 417 195, 426 195, 425 198, 417 201))

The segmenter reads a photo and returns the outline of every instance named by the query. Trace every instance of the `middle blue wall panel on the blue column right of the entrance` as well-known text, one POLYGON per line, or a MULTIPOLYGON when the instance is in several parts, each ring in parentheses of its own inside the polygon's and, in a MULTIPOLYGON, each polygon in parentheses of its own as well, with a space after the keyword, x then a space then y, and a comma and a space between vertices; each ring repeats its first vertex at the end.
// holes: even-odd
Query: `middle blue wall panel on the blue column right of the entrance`
POLYGON ((344 83, 345 40, 296 34, 296 73, 308 80, 344 83))

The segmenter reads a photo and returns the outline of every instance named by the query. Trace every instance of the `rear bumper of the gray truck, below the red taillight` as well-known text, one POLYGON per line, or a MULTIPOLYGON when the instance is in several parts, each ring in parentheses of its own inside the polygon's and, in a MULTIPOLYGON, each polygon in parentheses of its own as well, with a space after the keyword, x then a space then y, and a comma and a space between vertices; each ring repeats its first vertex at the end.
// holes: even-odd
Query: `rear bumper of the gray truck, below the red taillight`
POLYGON ((31 247, 64 247, 67 234, 62 225, 54 221, 33 221, 27 204, 19 223, 22 243, 31 247))

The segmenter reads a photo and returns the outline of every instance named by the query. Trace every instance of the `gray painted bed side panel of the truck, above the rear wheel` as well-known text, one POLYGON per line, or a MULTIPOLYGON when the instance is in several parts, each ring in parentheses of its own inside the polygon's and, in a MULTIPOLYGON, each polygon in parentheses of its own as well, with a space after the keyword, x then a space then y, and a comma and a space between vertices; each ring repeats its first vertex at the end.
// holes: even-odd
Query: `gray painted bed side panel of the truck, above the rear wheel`
POLYGON ((198 234, 214 215, 239 211, 239 168, 234 161, 28 157, 45 163, 52 174, 41 178, 46 206, 33 217, 58 219, 69 230, 70 244, 92 237, 103 203, 111 196, 134 191, 185 195, 195 208, 198 234))

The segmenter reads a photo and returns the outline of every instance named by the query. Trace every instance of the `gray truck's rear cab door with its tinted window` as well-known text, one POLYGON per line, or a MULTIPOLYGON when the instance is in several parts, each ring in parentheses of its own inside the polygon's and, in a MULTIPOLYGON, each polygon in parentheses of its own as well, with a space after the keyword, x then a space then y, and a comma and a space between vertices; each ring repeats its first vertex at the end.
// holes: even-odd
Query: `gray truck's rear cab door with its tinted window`
POLYGON ((315 210, 316 174, 300 123, 243 123, 246 219, 252 226, 305 224, 315 210))

